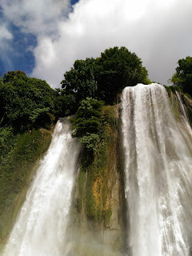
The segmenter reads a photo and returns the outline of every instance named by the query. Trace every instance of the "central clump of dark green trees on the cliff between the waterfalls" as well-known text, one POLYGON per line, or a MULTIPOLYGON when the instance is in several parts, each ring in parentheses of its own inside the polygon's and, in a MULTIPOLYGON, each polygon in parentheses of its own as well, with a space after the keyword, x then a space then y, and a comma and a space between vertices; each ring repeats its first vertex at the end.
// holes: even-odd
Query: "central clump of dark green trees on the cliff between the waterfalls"
MULTIPOLYGON (((117 94, 126 86, 138 82, 150 83, 146 68, 136 54, 126 47, 114 47, 104 51, 99 58, 77 60, 74 67, 64 74, 64 94, 73 94, 76 107, 86 97, 116 102, 117 94)), ((74 108, 75 110, 75 108, 74 108)))

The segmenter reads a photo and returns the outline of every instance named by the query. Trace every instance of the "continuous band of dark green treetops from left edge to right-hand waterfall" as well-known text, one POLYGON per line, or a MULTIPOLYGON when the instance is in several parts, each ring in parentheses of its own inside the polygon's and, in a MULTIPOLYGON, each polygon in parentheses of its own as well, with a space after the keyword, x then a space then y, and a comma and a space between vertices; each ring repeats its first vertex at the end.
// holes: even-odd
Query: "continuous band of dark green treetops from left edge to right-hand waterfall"
POLYGON ((62 89, 53 90, 45 80, 28 78, 23 71, 9 71, 0 79, 0 127, 45 127, 53 118, 75 114, 87 97, 114 104, 124 87, 138 82, 150 80, 141 59, 126 47, 76 60, 64 74, 62 89))

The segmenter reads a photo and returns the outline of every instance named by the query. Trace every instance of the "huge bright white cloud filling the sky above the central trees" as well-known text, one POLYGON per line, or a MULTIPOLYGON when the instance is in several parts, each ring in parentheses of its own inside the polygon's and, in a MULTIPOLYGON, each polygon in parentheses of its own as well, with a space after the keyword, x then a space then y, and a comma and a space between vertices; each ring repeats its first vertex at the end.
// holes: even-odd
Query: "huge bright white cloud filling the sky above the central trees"
POLYGON ((152 80, 166 83, 178 59, 192 54, 191 8, 188 0, 82 0, 58 22, 56 39, 39 38, 33 75, 59 86, 75 59, 126 46, 142 58, 152 80))

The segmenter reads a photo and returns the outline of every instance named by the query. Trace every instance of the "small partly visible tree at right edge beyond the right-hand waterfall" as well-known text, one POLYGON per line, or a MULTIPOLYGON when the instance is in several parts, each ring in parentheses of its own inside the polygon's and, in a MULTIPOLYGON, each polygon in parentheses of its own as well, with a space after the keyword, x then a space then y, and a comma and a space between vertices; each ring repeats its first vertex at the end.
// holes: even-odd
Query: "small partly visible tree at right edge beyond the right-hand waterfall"
POLYGON ((192 96, 192 57, 188 56, 178 60, 178 67, 170 78, 170 82, 192 96))

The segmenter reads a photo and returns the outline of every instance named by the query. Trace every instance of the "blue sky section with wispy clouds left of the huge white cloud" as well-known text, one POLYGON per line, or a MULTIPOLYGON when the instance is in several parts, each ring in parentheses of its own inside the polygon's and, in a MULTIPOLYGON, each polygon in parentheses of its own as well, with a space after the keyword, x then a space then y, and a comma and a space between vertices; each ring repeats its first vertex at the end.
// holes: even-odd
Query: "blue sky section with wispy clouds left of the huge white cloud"
MULTIPOLYGON (((0 69, 22 69, 36 39, 42 35, 57 38, 58 22, 65 20, 69 12, 70 0, 1 0, 0 69)), ((26 63, 27 72, 27 67, 32 66, 31 58, 26 63)))

